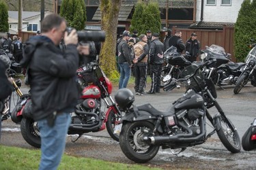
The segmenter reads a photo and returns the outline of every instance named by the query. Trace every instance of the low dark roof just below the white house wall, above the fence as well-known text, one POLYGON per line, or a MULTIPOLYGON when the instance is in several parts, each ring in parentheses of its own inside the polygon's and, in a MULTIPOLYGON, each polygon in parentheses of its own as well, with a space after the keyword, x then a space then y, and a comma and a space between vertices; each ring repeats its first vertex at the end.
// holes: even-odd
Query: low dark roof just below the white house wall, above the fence
POLYGON ((222 23, 222 22, 197 22, 190 24, 189 29, 223 29, 223 27, 234 27, 234 23, 222 23))

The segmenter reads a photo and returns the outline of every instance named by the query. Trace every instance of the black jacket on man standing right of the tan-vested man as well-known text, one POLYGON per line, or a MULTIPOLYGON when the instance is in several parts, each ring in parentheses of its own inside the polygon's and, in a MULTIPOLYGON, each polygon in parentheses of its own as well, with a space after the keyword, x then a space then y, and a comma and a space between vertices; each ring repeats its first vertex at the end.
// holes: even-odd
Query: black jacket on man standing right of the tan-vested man
POLYGON ((152 40, 150 44, 150 65, 161 65, 164 63, 164 44, 159 39, 152 40))

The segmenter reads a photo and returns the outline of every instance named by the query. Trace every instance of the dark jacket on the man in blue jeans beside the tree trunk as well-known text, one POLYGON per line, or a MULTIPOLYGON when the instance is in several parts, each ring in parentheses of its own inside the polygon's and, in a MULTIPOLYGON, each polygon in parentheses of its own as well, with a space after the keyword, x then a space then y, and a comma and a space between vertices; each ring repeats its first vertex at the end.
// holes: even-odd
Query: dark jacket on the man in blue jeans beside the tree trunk
POLYGON ((129 65, 132 65, 130 50, 126 40, 122 39, 122 41, 118 44, 117 49, 117 63, 128 63, 129 65))

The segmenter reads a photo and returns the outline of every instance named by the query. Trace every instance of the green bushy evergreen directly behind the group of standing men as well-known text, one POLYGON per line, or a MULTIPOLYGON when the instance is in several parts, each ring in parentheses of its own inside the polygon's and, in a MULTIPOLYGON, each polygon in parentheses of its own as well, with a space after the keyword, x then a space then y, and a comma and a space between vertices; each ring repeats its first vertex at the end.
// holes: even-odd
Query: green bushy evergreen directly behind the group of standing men
POLYGON ((147 30, 159 33, 161 29, 161 18, 158 3, 149 4, 139 1, 135 5, 134 14, 131 20, 130 31, 137 30, 139 34, 147 30))

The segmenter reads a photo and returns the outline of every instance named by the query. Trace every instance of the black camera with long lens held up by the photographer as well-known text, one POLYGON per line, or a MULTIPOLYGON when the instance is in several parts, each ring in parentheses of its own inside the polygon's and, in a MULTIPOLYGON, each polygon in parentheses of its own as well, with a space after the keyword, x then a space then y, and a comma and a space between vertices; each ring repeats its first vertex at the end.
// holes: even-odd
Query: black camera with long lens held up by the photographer
MULTIPOLYGON (((74 28, 67 27, 66 31, 68 34, 71 33, 71 31, 74 28)), ((79 41, 105 41, 106 33, 105 31, 76 31, 79 41)))

